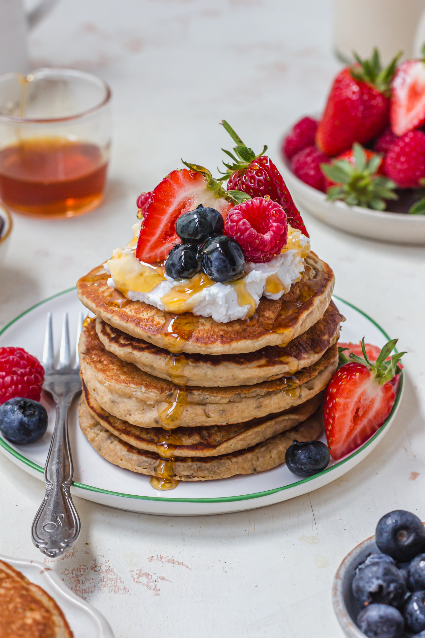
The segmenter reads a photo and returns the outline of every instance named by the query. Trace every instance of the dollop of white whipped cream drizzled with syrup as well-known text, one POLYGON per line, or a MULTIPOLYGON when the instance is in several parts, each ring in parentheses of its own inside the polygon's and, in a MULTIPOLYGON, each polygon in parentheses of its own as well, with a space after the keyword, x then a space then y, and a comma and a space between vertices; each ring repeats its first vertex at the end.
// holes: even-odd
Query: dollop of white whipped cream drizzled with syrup
POLYGON ((211 316, 219 323, 252 316, 264 295, 280 299, 301 279, 304 258, 310 252, 308 238, 289 226, 287 246, 270 262, 245 262, 245 274, 236 281, 219 283, 205 274, 191 279, 171 279, 164 267, 140 262, 134 254, 141 223, 133 226, 133 239, 117 248, 104 264, 108 286, 118 288, 127 299, 143 301, 170 313, 192 312, 211 316))

